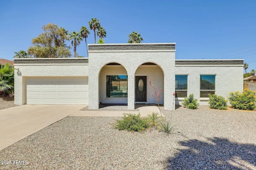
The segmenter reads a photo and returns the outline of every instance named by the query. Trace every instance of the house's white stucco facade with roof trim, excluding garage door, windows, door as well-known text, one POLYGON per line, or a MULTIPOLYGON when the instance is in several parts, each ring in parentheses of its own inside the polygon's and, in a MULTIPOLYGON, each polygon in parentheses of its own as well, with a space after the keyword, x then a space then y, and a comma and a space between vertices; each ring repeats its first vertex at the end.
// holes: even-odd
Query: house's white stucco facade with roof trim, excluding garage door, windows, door
MULTIPOLYGON (((89 109, 100 103, 127 104, 134 109, 136 76, 146 76, 146 101, 156 103, 151 93, 152 84, 161 89, 160 104, 174 109, 184 98, 174 98, 175 75, 188 75, 187 95, 194 94, 201 105, 208 98, 200 98, 200 74, 216 75, 215 94, 227 97, 229 92, 243 90, 243 60, 176 60, 175 43, 90 44, 88 58, 14 59, 14 103, 26 104, 26 80, 46 77, 86 77, 88 79, 89 109), (18 68, 18 69, 17 69, 18 68), (106 97, 106 76, 127 75, 127 98, 106 97)), ((41 79, 42 80, 42 79, 41 79)))

